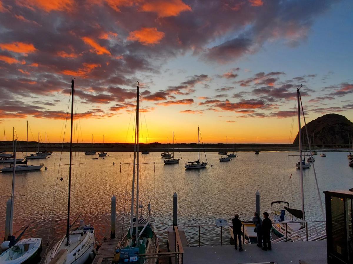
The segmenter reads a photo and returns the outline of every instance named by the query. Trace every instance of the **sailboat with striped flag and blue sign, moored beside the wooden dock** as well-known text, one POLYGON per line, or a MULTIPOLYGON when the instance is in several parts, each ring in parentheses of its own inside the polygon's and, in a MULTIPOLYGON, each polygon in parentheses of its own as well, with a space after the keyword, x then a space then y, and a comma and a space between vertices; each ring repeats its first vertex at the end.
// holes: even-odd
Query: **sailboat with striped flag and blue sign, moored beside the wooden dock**
POLYGON ((131 223, 128 232, 118 243, 117 249, 120 250, 119 263, 155 263, 156 260, 140 257, 139 254, 153 254, 158 252, 158 237, 152 228, 152 218, 150 217, 151 204, 148 203, 148 219, 142 216, 142 203, 139 205, 139 83, 137 85, 136 100, 136 126, 135 143, 133 155, 133 172, 131 188, 131 223), (134 186, 136 178, 136 204, 134 203, 134 186), (135 207, 136 206, 136 207, 135 207), (134 209, 136 208, 136 215, 134 209), (139 209, 141 214, 139 217, 139 209))

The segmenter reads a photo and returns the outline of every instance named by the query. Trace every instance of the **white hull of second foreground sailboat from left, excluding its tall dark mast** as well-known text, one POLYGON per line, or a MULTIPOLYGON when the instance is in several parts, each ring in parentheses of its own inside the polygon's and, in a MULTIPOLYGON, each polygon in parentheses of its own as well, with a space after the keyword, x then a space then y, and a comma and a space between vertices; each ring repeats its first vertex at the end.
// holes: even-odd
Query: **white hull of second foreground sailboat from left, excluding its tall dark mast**
MULTIPOLYGON (((83 228, 85 225, 80 226, 83 228)), ((70 232, 70 244, 66 246, 66 235, 62 237, 56 245, 50 249, 45 257, 44 264, 49 264, 61 249, 67 250, 65 264, 84 264, 95 244, 94 230, 86 231, 74 230, 70 232)))

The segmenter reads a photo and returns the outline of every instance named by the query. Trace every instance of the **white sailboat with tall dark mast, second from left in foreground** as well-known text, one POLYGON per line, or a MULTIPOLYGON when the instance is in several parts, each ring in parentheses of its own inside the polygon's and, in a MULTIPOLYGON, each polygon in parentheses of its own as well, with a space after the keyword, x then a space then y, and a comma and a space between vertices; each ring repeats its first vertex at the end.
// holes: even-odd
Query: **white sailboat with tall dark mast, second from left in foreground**
MULTIPOLYGON (((66 264, 83 264, 88 260, 90 253, 95 244, 95 230, 93 225, 84 224, 80 220, 80 225, 73 229, 72 226, 76 219, 70 225, 70 201, 71 201, 71 166, 72 166, 72 128, 73 128, 73 95, 74 95, 74 81, 71 81, 71 132, 70 132, 70 164, 68 169, 68 205, 67 205, 67 222, 66 235, 62 237, 54 247, 48 250, 44 259, 44 264, 48 264, 60 250, 65 250, 66 264)), ((79 215, 80 216, 80 215, 79 215)), ((79 217, 78 216, 78 217, 79 217)))

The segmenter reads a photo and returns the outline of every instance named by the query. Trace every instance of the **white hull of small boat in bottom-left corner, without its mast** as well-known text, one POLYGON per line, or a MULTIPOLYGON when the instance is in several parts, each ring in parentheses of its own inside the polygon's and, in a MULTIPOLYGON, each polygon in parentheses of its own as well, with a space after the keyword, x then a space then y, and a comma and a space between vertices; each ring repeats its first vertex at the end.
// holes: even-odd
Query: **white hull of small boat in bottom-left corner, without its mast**
POLYGON ((42 249, 41 238, 22 239, 0 255, 1 264, 36 263, 34 258, 42 249), (27 250, 25 248, 28 247, 27 250))

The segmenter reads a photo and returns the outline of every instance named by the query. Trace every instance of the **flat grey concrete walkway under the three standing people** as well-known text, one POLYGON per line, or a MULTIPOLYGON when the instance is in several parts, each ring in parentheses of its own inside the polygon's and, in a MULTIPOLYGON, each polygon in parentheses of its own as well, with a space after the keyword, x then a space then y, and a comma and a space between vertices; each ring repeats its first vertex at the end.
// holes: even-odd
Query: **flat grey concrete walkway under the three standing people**
POLYGON ((272 244, 272 251, 263 251, 256 244, 244 245, 236 251, 233 245, 184 247, 184 264, 235 264, 274 262, 276 264, 327 263, 326 241, 281 242, 272 244))

